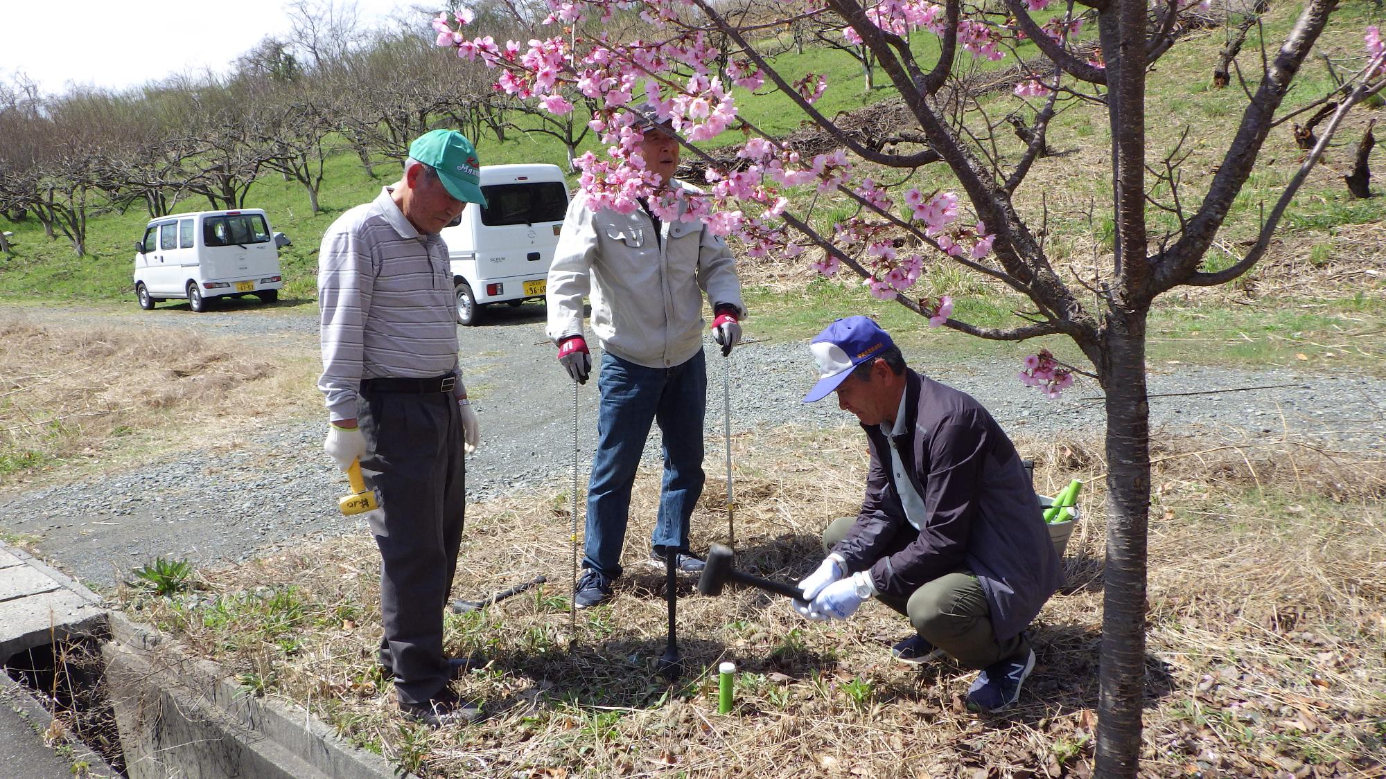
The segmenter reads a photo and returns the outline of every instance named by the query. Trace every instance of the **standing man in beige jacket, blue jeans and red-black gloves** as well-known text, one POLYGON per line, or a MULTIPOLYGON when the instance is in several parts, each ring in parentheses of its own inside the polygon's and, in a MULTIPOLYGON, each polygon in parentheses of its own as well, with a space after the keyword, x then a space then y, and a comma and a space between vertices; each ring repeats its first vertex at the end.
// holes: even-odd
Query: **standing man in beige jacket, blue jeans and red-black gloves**
MULTIPOLYGON (((644 169, 656 194, 697 190, 674 179, 679 141, 658 110, 635 111, 644 169)), ((712 305, 712 334, 722 355, 742 337, 742 283, 726 241, 707 225, 663 222, 646 200, 631 213, 593 208, 578 194, 568 207, 549 269, 549 337, 559 362, 578 384, 592 363, 582 331, 582 298, 592 298, 592 331, 606 352, 597 376, 597 444, 588 482, 588 523, 575 603, 611 597, 621 575, 621 548, 631 488, 650 424, 664 438, 664 482, 649 563, 672 557, 683 572, 703 570, 689 550, 689 518, 703 492, 703 419, 707 366, 703 359, 703 298, 712 305)), ((679 202, 679 215, 686 201, 679 202)))

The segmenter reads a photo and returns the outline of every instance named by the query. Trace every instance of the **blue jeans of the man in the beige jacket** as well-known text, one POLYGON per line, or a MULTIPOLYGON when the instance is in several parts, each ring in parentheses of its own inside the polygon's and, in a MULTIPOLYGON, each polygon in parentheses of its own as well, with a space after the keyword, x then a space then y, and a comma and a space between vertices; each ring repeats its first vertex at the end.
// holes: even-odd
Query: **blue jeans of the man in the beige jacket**
POLYGON ((707 365, 703 351, 674 367, 644 367, 607 352, 602 356, 597 391, 597 448, 588 482, 582 567, 615 578, 621 575, 631 487, 651 421, 660 423, 664 437, 664 488, 650 542, 687 549, 689 517, 704 481, 707 365))

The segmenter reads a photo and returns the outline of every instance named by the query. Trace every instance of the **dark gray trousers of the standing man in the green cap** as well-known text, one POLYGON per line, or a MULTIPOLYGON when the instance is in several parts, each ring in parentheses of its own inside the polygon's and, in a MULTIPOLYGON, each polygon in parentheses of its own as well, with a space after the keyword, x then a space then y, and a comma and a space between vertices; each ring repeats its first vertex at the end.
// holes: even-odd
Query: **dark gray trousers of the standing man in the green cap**
POLYGON ((360 473, 377 491, 370 516, 380 548, 380 663, 395 694, 423 703, 448 686, 442 614, 452 592, 466 510, 462 414, 450 392, 363 390, 360 473))

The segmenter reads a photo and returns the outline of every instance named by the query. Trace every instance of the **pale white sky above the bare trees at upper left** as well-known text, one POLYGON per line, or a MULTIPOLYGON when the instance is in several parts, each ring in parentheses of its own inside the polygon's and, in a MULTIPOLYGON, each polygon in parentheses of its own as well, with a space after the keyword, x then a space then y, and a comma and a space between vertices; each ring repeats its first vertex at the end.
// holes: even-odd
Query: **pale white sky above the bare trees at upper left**
MULTIPOLYGON (((121 89, 208 67, 225 73, 262 37, 288 30, 284 0, 0 1, 0 79, 22 71, 49 94, 68 83, 121 89)), ((414 4, 442 6, 356 0, 367 28, 414 4)))

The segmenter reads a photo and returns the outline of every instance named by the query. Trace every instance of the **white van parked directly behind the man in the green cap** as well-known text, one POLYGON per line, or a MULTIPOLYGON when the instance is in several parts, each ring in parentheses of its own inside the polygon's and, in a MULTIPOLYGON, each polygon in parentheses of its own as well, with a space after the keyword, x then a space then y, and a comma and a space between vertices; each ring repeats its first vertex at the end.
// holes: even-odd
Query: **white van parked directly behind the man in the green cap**
POLYGON ((557 165, 484 165, 481 191, 486 207, 468 207, 442 230, 463 324, 475 324, 488 304, 543 299, 568 209, 557 165))

